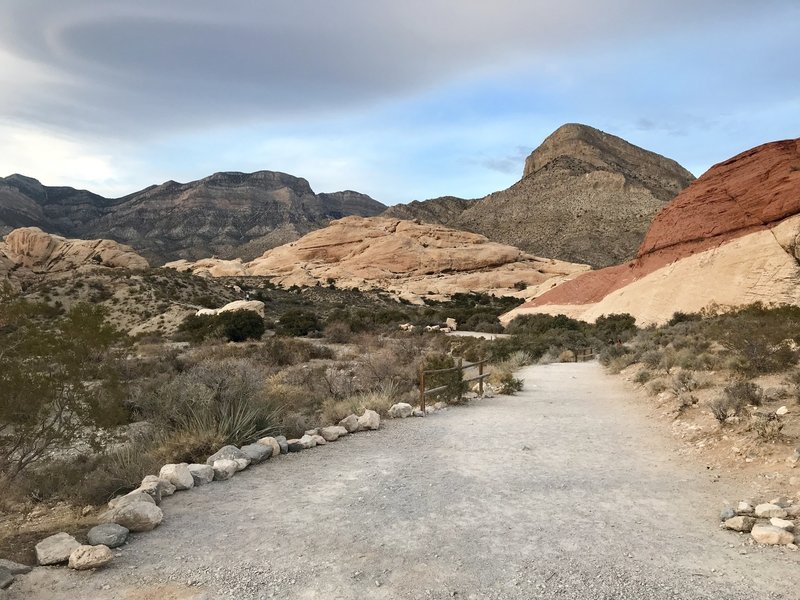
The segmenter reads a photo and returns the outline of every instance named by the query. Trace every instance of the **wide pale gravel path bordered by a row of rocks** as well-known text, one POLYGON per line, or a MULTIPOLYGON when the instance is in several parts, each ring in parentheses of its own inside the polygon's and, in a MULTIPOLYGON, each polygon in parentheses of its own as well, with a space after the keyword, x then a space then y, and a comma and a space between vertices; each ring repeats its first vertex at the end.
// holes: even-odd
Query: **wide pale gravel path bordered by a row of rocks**
POLYGON ((517 396, 176 494, 109 568, 35 569, 10 597, 798 597, 800 553, 718 530, 736 491, 679 459, 620 382, 593 363, 522 375, 517 396))

